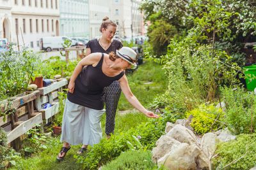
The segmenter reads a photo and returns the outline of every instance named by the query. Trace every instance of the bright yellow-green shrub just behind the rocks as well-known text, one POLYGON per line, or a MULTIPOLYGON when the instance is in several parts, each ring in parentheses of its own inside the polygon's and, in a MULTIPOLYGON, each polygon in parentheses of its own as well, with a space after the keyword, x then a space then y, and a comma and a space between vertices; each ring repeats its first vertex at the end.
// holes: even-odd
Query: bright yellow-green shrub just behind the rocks
POLYGON ((203 104, 194 110, 188 111, 186 115, 187 117, 193 115, 191 127, 194 128, 197 134, 216 131, 223 125, 221 121, 223 121, 224 113, 221 108, 215 108, 213 104, 208 106, 203 104))

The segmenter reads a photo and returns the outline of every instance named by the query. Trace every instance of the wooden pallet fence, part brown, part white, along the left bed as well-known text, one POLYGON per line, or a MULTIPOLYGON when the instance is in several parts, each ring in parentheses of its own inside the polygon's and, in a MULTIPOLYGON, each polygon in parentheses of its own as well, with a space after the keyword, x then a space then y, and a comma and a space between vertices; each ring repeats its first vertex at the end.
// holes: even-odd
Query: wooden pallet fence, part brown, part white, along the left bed
POLYGON ((9 100, 0 102, 2 113, 9 112, 5 118, 0 117, 0 127, 7 132, 8 143, 13 143, 13 148, 20 148, 19 137, 37 124, 44 126, 49 118, 59 111, 58 92, 62 92, 67 85, 67 80, 56 81, 48 87, 42 87, 33 92, 24 92, 9 100), (44 109, 44 104, 51 107, 44 109))

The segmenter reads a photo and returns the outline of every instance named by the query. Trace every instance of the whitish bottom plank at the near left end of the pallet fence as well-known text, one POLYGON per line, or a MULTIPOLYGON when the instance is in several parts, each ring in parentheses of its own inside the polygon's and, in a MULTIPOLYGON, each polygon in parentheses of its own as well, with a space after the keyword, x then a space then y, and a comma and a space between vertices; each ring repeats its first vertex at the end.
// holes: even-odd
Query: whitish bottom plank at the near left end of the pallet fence
POLYGON ((22 134, 28 132, 30 129, 35 127, 36 124, 41 124, 43 122, 42 113, 38 113, 35 117, 22 122, 20 125, 15 127, 11 132, 7 134, 8 143, 18 138, 22 134))

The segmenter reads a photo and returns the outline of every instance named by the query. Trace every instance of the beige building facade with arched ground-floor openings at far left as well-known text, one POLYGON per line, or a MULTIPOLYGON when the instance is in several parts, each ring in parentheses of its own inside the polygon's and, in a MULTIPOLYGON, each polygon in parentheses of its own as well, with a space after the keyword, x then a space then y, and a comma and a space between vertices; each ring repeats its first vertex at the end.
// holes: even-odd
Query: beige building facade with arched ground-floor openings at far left
POLYGON ((1 37, 8 41, 39 50, 40 38, 60 35, 59 0, 0 1, 1 37))

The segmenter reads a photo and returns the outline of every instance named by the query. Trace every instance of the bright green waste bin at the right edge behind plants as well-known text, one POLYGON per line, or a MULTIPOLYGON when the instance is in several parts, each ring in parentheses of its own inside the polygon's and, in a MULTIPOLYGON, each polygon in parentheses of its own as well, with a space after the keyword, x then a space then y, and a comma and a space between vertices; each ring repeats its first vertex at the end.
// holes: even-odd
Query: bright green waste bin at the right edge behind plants
POLYGON ((256 88, 256 64, 243 67, 246 88, 253 91, 256 88))

